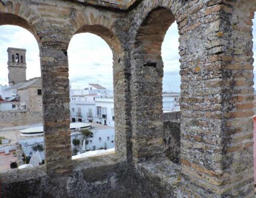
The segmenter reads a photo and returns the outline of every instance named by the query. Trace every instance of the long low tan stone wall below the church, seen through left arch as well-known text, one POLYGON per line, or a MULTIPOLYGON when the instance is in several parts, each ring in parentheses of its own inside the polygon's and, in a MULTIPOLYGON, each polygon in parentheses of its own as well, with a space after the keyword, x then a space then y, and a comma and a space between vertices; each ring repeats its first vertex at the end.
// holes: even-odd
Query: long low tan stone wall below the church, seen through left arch
POLYGON ((42 123, 42 112, 10 110, 0 112, 0 127, 36 125, 42 123))

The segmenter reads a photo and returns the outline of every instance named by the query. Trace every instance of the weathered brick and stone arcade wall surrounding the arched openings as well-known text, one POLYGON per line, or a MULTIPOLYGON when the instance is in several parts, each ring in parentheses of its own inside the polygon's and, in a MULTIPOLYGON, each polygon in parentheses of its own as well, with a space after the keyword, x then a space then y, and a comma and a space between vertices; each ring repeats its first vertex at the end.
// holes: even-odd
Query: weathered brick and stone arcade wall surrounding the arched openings
MULTIPOLYGON (((52 193, 46 195, 82 196, 89 188, 86 195, 97 197, 111 186, 111 179, 94 180, 90 171, 82 178, 71 159, 67 47, 74 34, 90 32, 113 51, 115 145, 133 167, 122 174, 132 174, 134 196, 253 197, 255 10, 256 1, 245 0, 0 1, 0 25, 26 28, 40 48, 45 177, 51 181, 44 189, 52 193), (180 166, 165 157, 161 104, 161 44, 174 21, 181 56, 180 166)), ((10 181, 1 176, 1 182, 5 193, 10 181)))

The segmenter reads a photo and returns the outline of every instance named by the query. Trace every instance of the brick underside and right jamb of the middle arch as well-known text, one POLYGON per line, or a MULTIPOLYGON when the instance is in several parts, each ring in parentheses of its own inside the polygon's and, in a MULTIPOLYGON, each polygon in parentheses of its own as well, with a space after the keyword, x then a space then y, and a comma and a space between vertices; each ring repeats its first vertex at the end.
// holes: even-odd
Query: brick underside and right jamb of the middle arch
POLYGON ((106 17, 99 17, 101 20, 92 20, 92 22, 86 22, 86 25, 79 28, 75 34, 78 33, 92 33, 100 36, 108 46, 113 54, 113 88, 114 88, 114 114, 115 114, 115 151, 120 155, 127 155, 127 142, 126 134, 128 133, 127 122, 127 92, 128 78, 127 73, 127 52, 123 47, 123 42, 118 38, 117 34, 113 30, 110 21, 106 21, 106 17), (98 22, 97 22, 98 21, 98 22), (88 24, 95 23, 95 24, 88 24))

